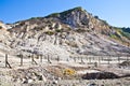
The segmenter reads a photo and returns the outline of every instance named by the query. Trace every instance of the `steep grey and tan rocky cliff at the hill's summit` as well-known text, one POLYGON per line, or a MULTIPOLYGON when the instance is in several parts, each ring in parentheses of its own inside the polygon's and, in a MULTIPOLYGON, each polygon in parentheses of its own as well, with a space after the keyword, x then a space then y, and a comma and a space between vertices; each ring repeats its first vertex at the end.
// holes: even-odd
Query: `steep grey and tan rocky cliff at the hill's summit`
POLYGON ((74 29, 88 29, 95 30, 96 32, 112 32, 112 27, 105 22, 100 19, 98 16, 92 16, 82 8, 75 8, 62 13, 51 14, 49 17, 58 18, 62 23, 65 23, 74 29))

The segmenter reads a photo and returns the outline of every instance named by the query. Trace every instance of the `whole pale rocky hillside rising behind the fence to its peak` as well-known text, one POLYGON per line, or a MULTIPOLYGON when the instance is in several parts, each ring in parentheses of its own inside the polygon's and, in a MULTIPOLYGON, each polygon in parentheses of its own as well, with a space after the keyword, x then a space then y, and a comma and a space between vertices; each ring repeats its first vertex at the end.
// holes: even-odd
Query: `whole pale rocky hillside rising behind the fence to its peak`
POLYGON ((5 43, 14 51, 12 54, 35 53, 63 59, 77 55, 130 54, 130 40, 121 31, 81 8, 17 22, 8 32, 10 39, 5 43))

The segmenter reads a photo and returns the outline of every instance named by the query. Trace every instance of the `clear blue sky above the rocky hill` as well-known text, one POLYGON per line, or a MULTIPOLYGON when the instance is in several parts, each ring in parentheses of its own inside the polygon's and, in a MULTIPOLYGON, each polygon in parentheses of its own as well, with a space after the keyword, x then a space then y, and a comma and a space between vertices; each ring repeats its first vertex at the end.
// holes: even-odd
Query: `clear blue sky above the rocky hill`
POLYGON ((0 20, 15 23, 82 6, 112 26, 130 27, 130 0, 0 0, 0 20))

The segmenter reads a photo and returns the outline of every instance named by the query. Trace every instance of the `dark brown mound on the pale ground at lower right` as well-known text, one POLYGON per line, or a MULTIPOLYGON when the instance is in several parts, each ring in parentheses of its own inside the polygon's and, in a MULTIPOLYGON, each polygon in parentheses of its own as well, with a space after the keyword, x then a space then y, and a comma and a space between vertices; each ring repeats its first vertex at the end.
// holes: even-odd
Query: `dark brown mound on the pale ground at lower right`
POLYGON ((106 80, 106 78, 118 78, 119 76, 110 72, 98 72, 87 73, 82 75, 83 80, 106 80))

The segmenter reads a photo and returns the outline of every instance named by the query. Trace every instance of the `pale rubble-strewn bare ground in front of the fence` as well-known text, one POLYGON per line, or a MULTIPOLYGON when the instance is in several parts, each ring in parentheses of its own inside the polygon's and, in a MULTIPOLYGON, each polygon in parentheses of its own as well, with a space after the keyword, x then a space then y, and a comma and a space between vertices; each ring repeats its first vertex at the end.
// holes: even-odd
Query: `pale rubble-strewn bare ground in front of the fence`
POLYGON ((25 64, 13 69, 4 67, 0 69, 0 86, 130 86, 130 69, 118 68, 115 64, 95 68, 93 64, 43 62, 38 66, 25 64), (66 70, 70 72, 65 73, 66 70), (72 74, 72 71, 75 71, 73 72, 74 74, 72 74), (112 72, 122 77, 105 80, 81 78, 86 73, 96 72, 112 72), (41 80, 39 78, 40 76, 41 80))

